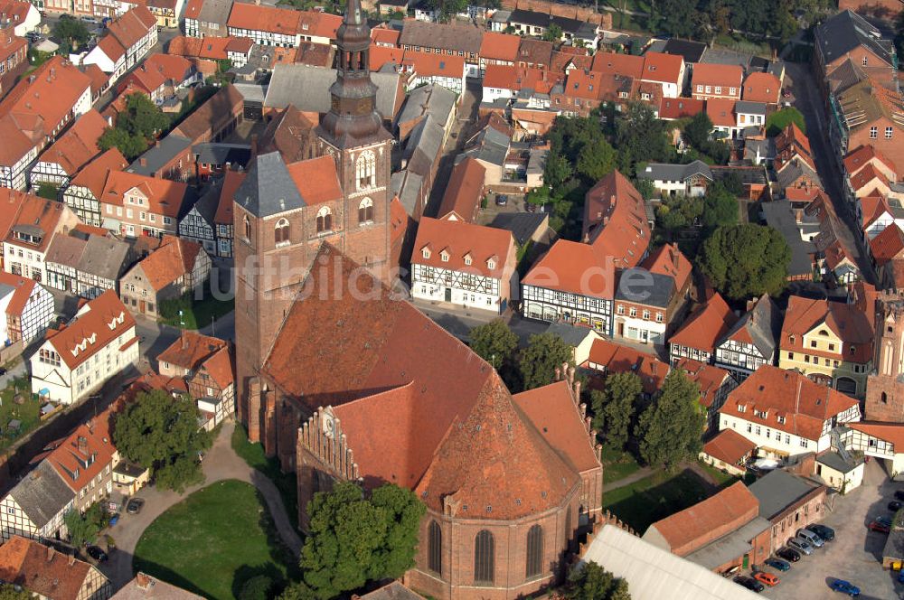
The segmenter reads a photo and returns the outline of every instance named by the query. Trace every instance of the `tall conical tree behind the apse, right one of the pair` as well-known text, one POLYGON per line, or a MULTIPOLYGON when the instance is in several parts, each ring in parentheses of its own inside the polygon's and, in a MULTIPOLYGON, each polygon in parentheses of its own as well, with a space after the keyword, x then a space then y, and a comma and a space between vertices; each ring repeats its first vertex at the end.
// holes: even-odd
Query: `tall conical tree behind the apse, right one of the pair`
POLYGON ((683 370, 673 369, 665 376, 658 398, 637 422, 641 458, 669 470, 692 460, 700 453, 705 424, 700 388, 683 370))

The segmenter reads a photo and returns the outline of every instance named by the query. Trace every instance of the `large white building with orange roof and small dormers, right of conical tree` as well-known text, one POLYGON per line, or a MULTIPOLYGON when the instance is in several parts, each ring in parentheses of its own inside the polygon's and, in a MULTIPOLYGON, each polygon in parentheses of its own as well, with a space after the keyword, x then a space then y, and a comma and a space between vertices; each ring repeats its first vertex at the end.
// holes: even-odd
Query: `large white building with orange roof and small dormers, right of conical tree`
POLYGON ((860 403, 793 370, 763 365, 734 389, 719 411, 719 428, 755 443, 760 455, 821 453, 833 429, 861 418, 860 403))

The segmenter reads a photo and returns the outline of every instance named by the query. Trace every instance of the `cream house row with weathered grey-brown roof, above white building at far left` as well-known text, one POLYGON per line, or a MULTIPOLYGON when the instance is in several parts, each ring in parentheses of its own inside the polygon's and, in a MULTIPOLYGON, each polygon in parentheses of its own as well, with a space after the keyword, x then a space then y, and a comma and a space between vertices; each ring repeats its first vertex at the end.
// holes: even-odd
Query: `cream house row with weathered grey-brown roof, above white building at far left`
POLYGON ((131 257, 127 242, 77 226, 53 237, 45 258, 47 286, 89 300, 109 289, 116 292, 131 257))

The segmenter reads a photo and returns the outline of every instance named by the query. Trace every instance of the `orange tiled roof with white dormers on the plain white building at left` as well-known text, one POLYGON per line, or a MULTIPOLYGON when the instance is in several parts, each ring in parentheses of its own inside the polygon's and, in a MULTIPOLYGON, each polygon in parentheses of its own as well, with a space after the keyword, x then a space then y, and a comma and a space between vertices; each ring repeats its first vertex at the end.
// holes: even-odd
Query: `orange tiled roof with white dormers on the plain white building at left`
POLYGON ((73 370, 135 326, 135 319, 112 289, 89 300, 61 330, 48 330, 47 341, 73 370))

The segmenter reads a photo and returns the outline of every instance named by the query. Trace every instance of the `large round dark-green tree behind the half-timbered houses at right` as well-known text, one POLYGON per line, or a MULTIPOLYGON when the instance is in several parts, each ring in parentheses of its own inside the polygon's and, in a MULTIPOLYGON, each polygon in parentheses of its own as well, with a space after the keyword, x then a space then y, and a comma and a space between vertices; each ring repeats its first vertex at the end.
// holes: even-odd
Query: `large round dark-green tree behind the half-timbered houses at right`
POLYGON ((713 231, 697 257, 703 275, 732 300, 777 295, 785 289, 790 263, 791 249, 782 234, 753 223, 713 231))

